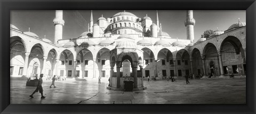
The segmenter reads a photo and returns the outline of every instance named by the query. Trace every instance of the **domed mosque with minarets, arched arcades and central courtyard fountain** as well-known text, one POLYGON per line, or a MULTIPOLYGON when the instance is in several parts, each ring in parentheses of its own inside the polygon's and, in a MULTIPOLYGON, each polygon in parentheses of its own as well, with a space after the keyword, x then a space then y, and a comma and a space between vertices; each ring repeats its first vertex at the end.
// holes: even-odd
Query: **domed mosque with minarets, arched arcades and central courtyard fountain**
POLYGON ((55 11, 54 42, 10 25, 11 77, 45 74, 67 78, 110 79, 110 88, 124 88, 132 80, 143 89, 143 78, 229 78, 246 75, 246 23, 234 22, 225 31, 214 31, 209 38, 194 41, 193 11, 186 11, 187 39, 172 38, 150 17, 139 18, 119 12, 100 17, 78 38, 62 39, 63 11, 55 11), (137 81, 134 81, 137 80, 137 81))

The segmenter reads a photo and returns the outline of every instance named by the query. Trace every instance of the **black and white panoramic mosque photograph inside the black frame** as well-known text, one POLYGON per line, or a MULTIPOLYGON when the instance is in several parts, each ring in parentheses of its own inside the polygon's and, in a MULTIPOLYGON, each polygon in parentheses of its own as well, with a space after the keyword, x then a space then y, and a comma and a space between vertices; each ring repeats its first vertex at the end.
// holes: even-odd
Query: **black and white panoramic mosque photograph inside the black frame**
POLYGON ((246 104, 246 10, 11 10, 10 103, 246 104))

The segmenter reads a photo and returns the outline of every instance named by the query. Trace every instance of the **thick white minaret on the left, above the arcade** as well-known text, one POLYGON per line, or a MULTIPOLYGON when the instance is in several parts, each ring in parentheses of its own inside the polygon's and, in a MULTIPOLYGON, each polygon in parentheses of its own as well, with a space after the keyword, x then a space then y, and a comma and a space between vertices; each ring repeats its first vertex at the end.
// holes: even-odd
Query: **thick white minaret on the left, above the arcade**
POLYGON ((54 44, 58 44, 58 40, 62 39, 62 26, 64 26, 64 23, 63 11, 56 10, 55 19, 53 19, 53 25, 55 26, 54 44))

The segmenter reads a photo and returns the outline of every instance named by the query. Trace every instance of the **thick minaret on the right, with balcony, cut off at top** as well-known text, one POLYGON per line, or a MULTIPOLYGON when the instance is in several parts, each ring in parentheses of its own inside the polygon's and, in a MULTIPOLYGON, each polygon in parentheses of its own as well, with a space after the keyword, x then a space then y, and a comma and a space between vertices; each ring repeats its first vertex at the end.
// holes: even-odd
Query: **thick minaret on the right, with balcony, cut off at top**
POLYGON ((190 43, 194 42, 194 25, 196 21, 193 18, 193 10, 186 11, 186 20, 184 21, 185 27, 187 27, 187 39, 190 39, 190 43))

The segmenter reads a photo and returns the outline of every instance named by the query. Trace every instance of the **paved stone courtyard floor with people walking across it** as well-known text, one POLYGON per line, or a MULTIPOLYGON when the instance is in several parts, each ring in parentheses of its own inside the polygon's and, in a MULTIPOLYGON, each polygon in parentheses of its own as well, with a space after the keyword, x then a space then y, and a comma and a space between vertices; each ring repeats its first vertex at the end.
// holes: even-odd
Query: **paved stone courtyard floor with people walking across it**
POLYGON ((11 104, 245 104, 246 82, 241 79, 185 79, 144 81, 143 91, 109 90, 107 80, 66 80, 43 82, 45 99, 29 95, 36 87, 26 86, 26 80, 11 80, 11 104))

